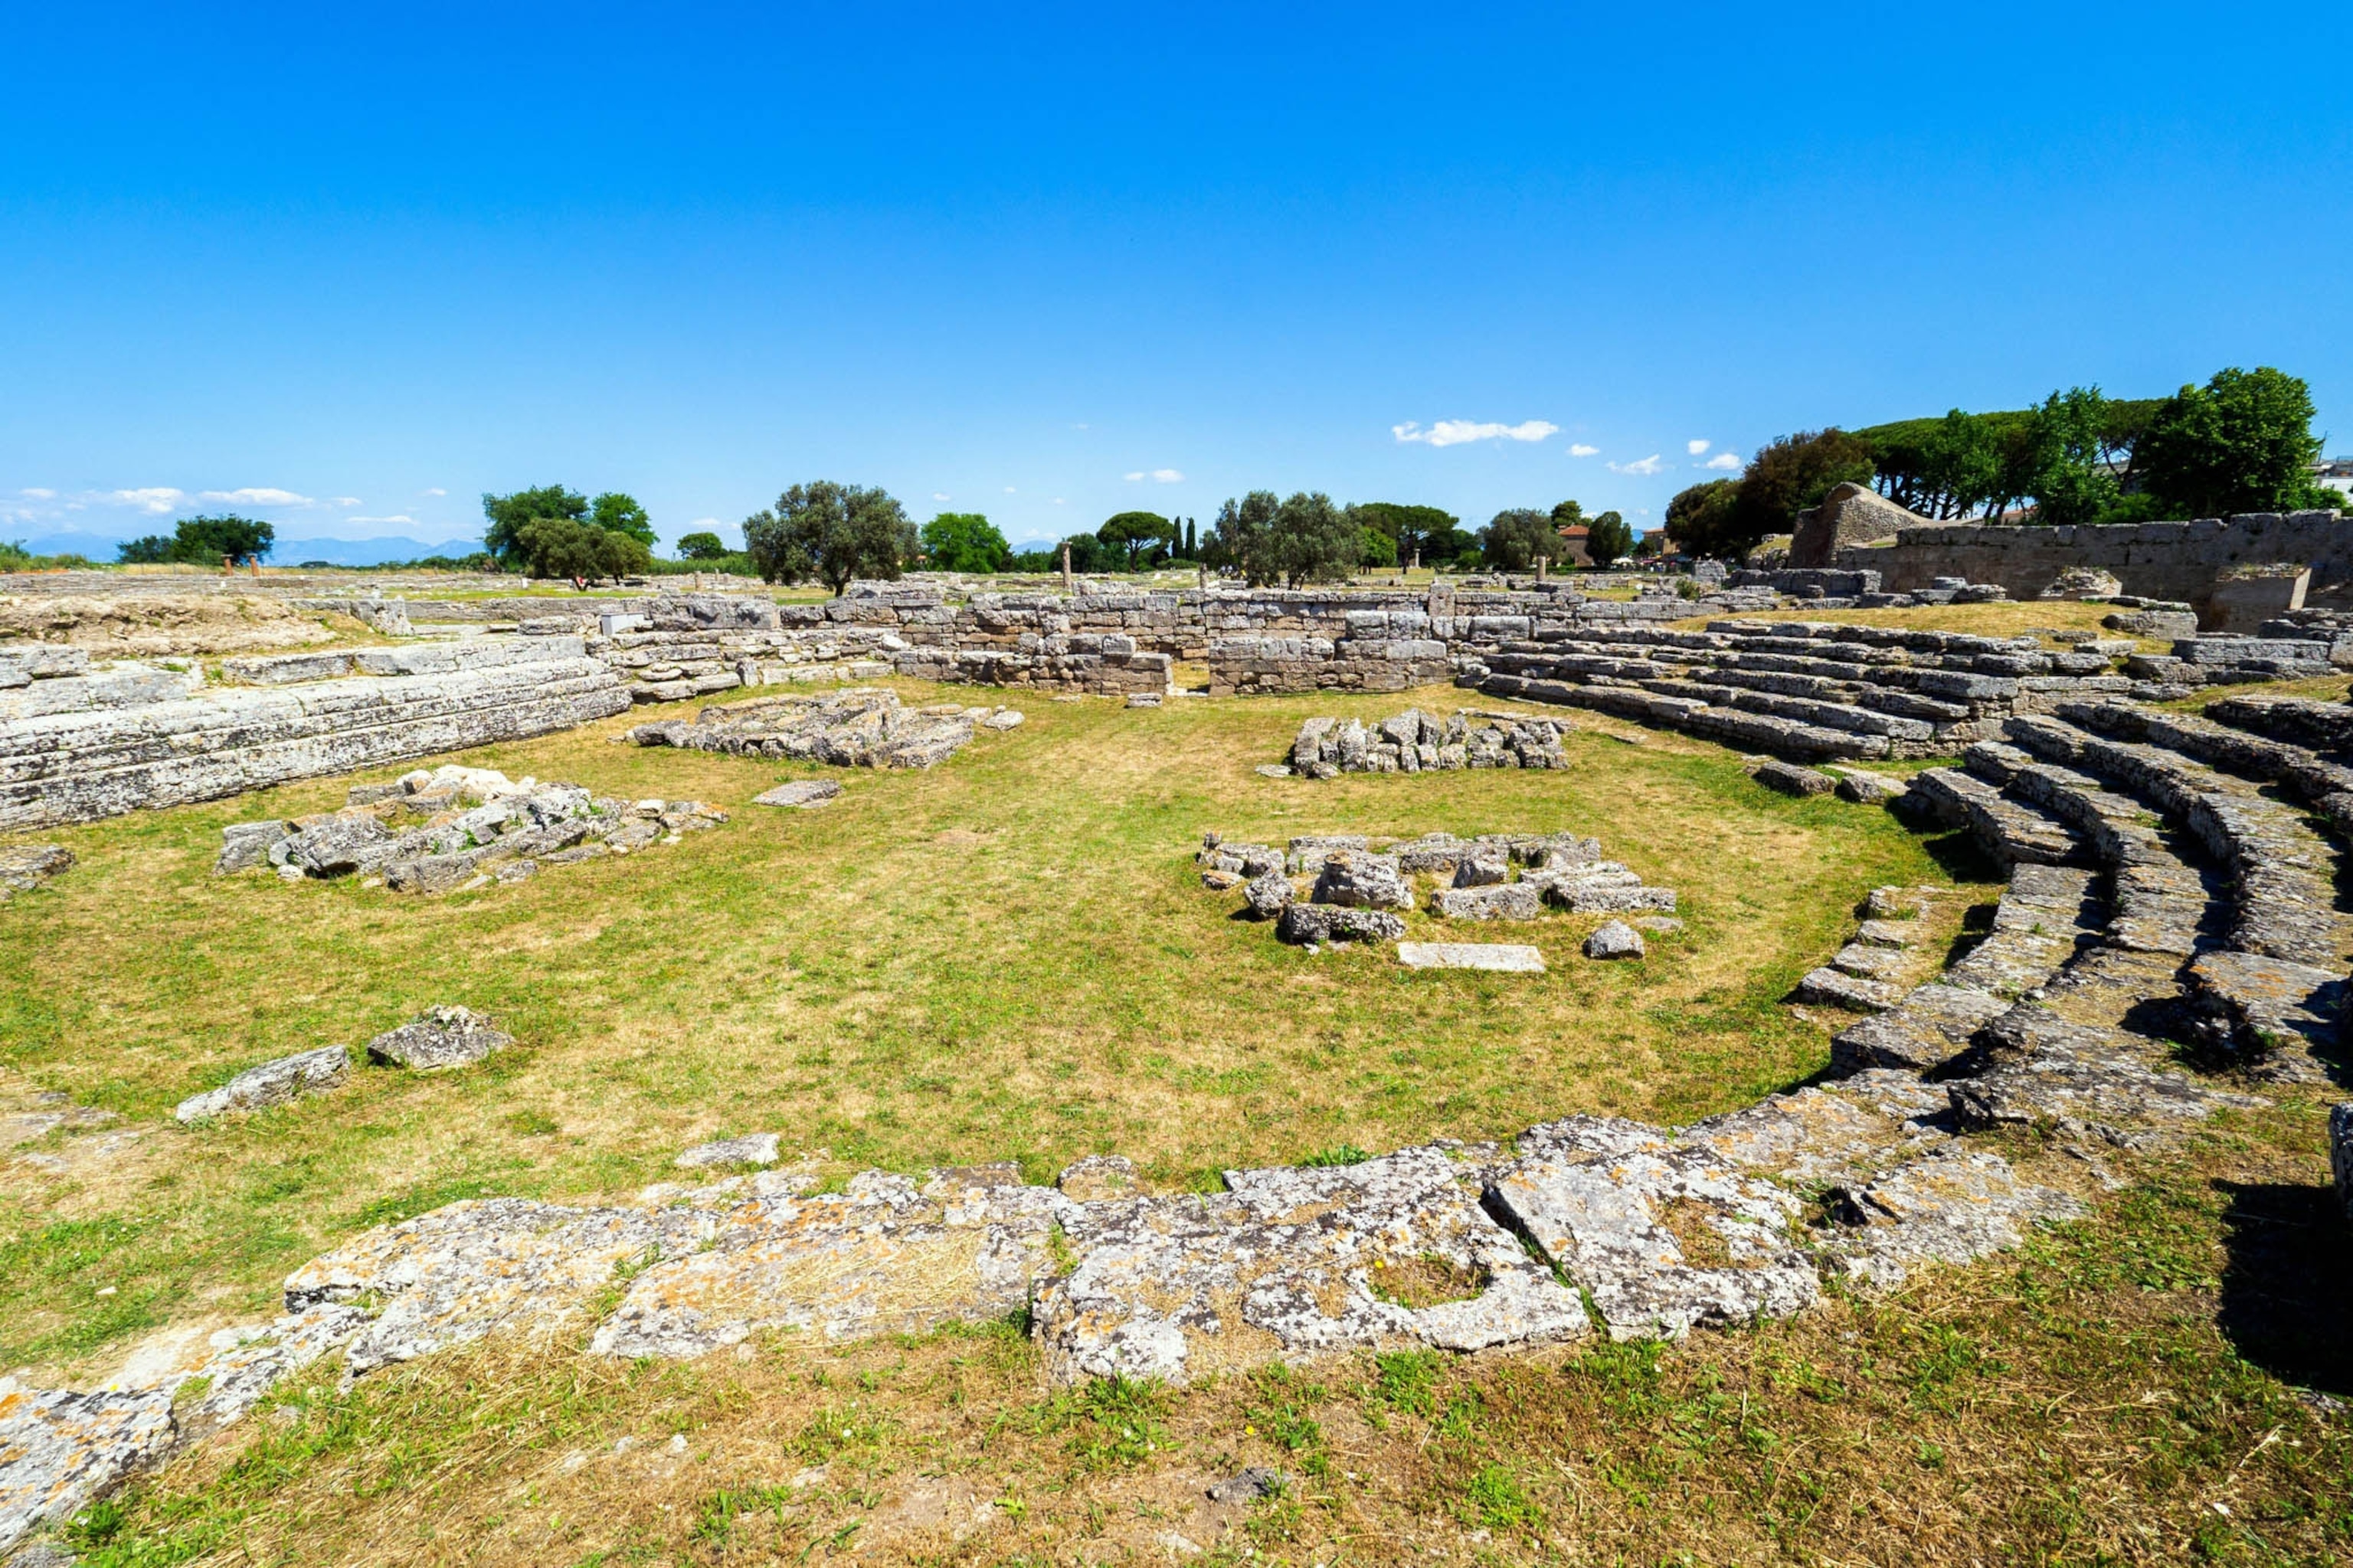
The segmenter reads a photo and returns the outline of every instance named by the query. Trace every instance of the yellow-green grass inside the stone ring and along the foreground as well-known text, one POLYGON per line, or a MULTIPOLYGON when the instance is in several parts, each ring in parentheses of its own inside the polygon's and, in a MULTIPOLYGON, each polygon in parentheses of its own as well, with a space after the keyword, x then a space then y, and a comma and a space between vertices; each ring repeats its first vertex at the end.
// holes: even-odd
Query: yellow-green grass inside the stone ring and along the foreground
MULTIPOLYGON (((0 1368, 87 1387, 162 1328, 266 1314, 360 1227, 626 1194, 722 1133, 781 1131, 831 1171, 1014 1157, 1035 1180, 1106 1150, 1179 1190, 1567 1112, 1689 1121, 1821 1070, 1842 1018, 1781 997, 1864 891, 1991 896, 1953 839, 1588 715, 1558 773, 1252 773, 1311 712, 1414 701, 1466 693, 1014 696, 1021 729, 842 776, 814 813, 746 802, 816 769, 616 745, 616 719, 466 762, 734 820, 440 900, 212 877, 224 823, 351 780, 45 835, 80 863, 0 905, 0 1117, 64 1091, 120 1121, 7 1166, 0 1368), (1537 940, 1544 978, 1306 954, 1198 886, 1205 827, 1591 832, 1689 929, 1619 966, 1577 957, 1591 919, 1478 933, 1537 940), (435 1001, 518 1048, 169 1124, 186 1093, 435 1001)), ((348 1392, 320 1368, 75 1540, 89 1563, 1141 1563, 1184 1556, 1172 1533, 1212 1563, 2337 1561, 2353 1441, 2325 1396, 2353 1396, 2353 1269, 2320 1100, 2275 1100, 2024 1255, 1755 1333, 1066 1394, 1019 1326, 689 1366, 494 1340, 348 1392), (1238 1465, 1289 1483, 1205 1505, 1238 1465)))

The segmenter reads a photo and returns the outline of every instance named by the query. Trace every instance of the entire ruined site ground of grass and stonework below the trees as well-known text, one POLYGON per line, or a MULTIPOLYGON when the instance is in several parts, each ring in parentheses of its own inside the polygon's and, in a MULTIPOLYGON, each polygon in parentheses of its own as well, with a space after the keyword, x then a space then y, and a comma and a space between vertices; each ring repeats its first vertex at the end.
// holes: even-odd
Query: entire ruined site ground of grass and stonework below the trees
POLYGON ((0 1561, 2346 1561, 2353 616, 2127 545, 5 578, 0 1561))

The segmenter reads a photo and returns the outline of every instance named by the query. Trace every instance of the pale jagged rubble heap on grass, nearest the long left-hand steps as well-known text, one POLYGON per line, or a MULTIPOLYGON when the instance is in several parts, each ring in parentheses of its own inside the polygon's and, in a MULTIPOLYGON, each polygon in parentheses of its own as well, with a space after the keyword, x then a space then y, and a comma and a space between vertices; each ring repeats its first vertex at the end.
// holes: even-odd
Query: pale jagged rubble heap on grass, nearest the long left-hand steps
POLYGON ((449 893, 675 844, 725 820, 699 799, 626 802, 496 769, 416 769, 388 785, 353 785, 341 811, 231 823, 214 872, 268 865, 287 882, 362 877, 395 893, 449 893))

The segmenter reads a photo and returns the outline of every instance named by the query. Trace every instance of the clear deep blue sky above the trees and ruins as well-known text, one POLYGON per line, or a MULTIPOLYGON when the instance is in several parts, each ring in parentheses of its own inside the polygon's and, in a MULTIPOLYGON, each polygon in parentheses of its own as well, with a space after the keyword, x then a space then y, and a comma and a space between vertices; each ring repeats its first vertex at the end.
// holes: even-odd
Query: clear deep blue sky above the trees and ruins
POLYGON ((2353 449, 2341 0, 19 5, 0 52, 0 538, 442 541, 555 480, 675 538, 812 477, 1014 541, 1252 487, 1654 524, 1786 430, 2224 364, 2353 449))

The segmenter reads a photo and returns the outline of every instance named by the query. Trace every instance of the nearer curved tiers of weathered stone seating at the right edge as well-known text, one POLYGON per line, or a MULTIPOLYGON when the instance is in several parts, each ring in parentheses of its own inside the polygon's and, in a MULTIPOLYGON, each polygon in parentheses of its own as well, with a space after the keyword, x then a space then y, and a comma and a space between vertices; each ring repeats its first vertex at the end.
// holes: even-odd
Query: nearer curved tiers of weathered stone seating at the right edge
POLYGON ((2059 1117, 2144 1133, 2228 1100, 2174 1070, 2167 1039, 2231 1046, 2259 1074, 2315 1077, 2311 1046, 2334 1039, 2353 922, 2334 907, 2329 842, 2261 785, 2329 816, 2353 804, 2353 771, 2280 738, 2353 726, 2320 703, 2217 708, 2240 724, 2059 703, 2009 715, 2000 741, 1962 750, 1962 769, 1925 771, 1913 799, 2012 867, 1995 936, 2028 919, 2040 950, 2017 954, 2007 985, 1986 985, 1988 938, 1845 1030, 1833 1067, 1951 1079, 1962 1126, 2059 1117), (2054 875, 2097 877, 2073 933, 2024 903, 2049 898, 2054 875))

